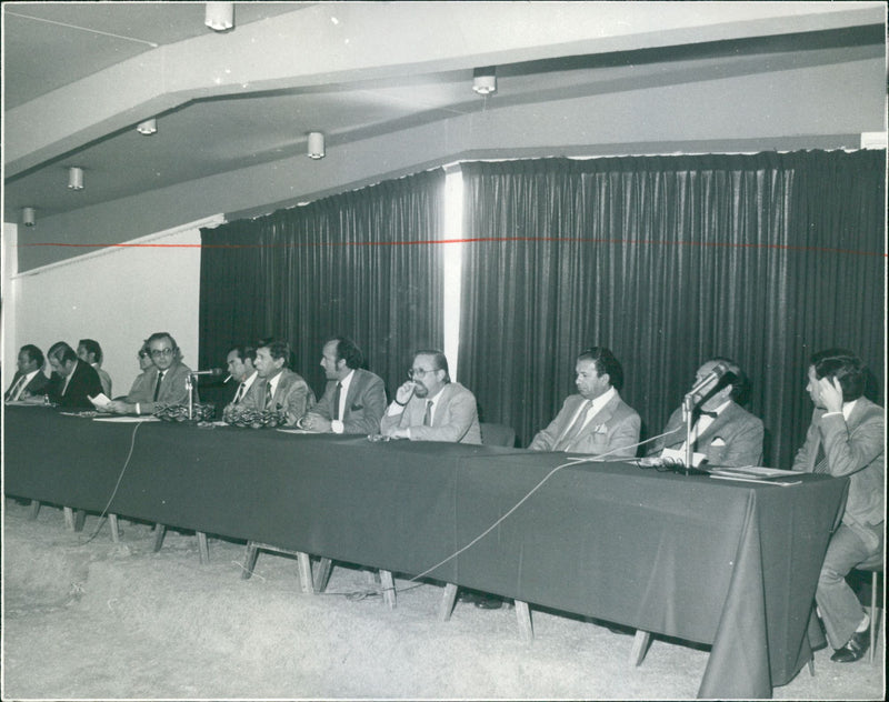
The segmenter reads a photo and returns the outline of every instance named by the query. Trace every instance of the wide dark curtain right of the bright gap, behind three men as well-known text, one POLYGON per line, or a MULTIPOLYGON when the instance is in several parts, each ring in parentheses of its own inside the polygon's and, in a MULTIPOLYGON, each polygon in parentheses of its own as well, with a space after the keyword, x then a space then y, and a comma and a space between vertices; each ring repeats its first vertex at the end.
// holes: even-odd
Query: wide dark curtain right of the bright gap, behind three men
MULTIPOLYGON (((738 361, 789 467, 808 355, 883 368, 885 152, 547 159, 463 167, 460 380, 522 444, 609 347, 659 433, 698 365, 738 361)), ((643 452, 640 451, 640 452, 643 452)))

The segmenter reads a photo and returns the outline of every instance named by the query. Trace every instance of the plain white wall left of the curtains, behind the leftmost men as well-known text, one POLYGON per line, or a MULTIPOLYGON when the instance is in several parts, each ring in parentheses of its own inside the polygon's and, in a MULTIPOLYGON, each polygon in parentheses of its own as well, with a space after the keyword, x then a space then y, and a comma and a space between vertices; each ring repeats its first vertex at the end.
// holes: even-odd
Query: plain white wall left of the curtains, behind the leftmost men
MULTIPOLYGON (((4 377, 11 378, 18 349, 26 343, 46 353, 56 341, 77 347, 89 338, 102 345, 112 394, 126 394, 139 373, 136 353, 154 331, 170 332, 184 362, 194 368, 199 228, 222 221, 216 215, 130 242, 138 247, 101 249, 12 275, 3 291, 4 377)), ((7 233, 4 228, 4 240, 7 233)), ((9 234, 10 240, 27 235, 9 234)))

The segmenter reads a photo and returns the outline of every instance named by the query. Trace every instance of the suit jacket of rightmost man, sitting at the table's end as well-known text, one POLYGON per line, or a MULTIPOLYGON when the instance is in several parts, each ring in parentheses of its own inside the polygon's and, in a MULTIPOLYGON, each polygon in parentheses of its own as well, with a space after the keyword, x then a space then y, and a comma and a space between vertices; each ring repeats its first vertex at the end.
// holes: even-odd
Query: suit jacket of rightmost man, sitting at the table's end
MULTIPOLYGON (((847 421, 842 414, 825 417, 816 409, 806 441, 793 459, 793 470, 811 473, 822 447, 831 475, 849 475, 849 494, 842 522, 866 543, 878 542, 885 520, 886 410, 858 398, 847 421)), ((876 548, 876 546, 875 546, 876 548)))

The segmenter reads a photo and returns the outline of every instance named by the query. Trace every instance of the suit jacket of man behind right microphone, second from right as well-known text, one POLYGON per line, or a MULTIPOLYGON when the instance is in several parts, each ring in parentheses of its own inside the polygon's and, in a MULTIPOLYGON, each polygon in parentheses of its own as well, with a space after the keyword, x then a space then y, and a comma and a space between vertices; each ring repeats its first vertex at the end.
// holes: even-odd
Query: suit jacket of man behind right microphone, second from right
MULTIPOLYGON (((685 428, 682 408, 679 408, 670 415, 663 430, 669 435, 656 441, 648 454, 660 453, 663 449, 679 449, 686 441, 685 428)), ((710 465, 761 465, 763 435, 762 420, 730 402, 700 433, 692 450, 703 453, 710 465)))

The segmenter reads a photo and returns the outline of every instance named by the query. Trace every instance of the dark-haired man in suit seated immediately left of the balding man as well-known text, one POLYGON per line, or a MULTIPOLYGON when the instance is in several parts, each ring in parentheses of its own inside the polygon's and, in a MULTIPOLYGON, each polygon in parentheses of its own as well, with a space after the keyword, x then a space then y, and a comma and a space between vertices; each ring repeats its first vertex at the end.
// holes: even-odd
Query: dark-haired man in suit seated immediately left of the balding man
POLYGON ((241 404, 254 410, 283 412, 287 424, 296 424, 314 404, 314 393, 302 377, 288 368, 290 344, 273 339, 260 341, 254 364, 259 377, 241 404))

